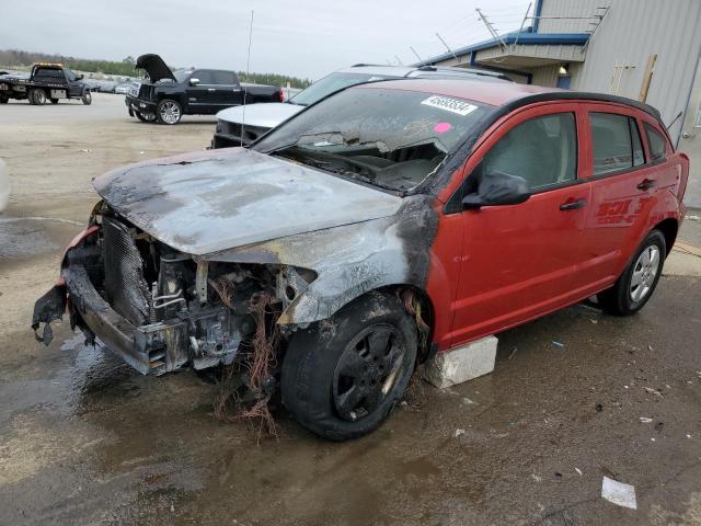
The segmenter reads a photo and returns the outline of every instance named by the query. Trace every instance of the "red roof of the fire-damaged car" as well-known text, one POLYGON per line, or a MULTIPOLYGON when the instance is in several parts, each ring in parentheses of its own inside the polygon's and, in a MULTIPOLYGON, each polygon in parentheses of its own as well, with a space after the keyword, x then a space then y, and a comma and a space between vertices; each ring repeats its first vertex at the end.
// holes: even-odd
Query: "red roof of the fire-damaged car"
POLYGON ((584 91, 561 90, 559 88, 545 88, 533 84, 519 84, 518 82, 490 82, 480 80, 453 80, 453 79, 412 79, 411 81, 386 80, 380 82, 358 84, 358 89, 389 88, 392 90, 418 91, 437 95, 467 99, 491 106, 513 110, 518 106, 544 101, 558 100, 588 100, 623 104, 647 113, 654 117, 664 128, 659 112, 648 104, 624 96, 608 95, 605 93, 590 93, 584 91))

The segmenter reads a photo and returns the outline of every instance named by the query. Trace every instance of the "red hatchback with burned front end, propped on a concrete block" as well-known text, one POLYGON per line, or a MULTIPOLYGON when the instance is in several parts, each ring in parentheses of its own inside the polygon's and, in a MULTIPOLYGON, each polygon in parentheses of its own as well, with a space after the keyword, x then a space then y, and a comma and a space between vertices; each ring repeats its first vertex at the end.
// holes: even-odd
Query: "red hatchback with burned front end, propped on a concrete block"
POLYGON ((598 295, 651 298, 689 160, 635 101, 502 82, 356 85, 249 149, 95 180, 35 306, 143 374, 240 364, 311 431, 368 433, 417 361, 598 295))

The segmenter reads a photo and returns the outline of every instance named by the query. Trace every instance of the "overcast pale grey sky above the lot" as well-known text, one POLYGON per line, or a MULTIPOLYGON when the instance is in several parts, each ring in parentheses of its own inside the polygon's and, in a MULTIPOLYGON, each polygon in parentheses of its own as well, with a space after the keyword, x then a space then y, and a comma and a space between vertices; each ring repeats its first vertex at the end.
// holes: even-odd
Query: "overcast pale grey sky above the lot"
POLYGON ((318 79, 356 62, 404 64, 518 28, 519 0, 3 0, 0 49, 122 60, 157 53, 171 66, 244 70, 254 10, 251 71, 318 79))

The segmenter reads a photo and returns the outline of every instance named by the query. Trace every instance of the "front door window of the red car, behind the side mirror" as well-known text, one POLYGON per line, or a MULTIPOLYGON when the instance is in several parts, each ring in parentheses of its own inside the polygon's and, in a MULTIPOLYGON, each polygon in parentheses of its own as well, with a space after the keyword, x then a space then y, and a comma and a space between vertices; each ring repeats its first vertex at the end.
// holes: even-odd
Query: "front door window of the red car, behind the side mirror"
POLYGON ((482 160, 484 175, 502 172, 524 178, 533 190, 577 178, 577 130, 574 113, 526 121, 494 145, 482 160))

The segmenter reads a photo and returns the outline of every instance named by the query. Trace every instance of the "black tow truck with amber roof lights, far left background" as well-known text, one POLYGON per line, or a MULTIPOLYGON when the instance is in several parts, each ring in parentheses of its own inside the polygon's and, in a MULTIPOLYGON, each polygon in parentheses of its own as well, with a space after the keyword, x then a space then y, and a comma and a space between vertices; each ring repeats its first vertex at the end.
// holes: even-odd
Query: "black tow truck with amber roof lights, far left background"
POLYGON ((0 77, 0 104, 10 99, 27 99, 30 104, 44 104, 60 99, 81 99, 83 104, 92 103, 90 88, 82 75, 76 75, 61 64, 35 64, 28 78, 19 76, 0 77))

